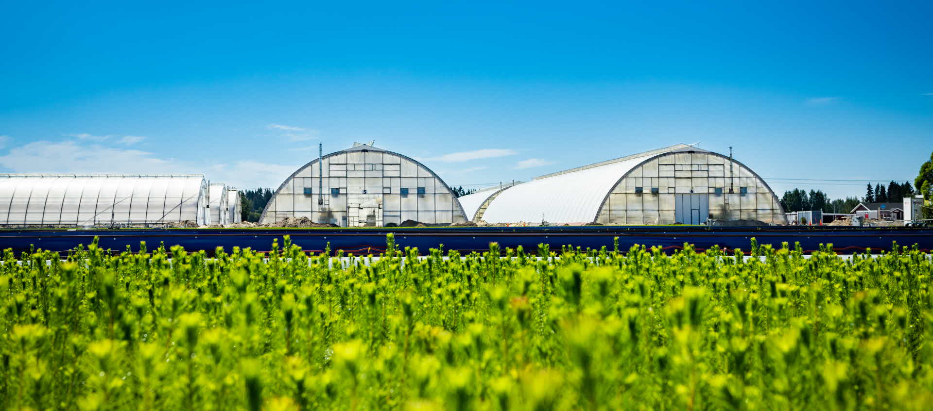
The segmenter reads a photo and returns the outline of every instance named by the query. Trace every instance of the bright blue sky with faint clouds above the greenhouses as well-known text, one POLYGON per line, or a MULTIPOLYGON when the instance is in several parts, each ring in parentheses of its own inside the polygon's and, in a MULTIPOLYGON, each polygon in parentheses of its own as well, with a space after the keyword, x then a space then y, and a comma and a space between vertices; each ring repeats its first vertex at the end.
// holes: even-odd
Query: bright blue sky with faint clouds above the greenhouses
POLYGON ((929 2, 27 3, 0 7, 0 171, 274 187, 375 140, 482 185, 699 142, 836 198, 864 183, 781 179, 933 151, 929 2))

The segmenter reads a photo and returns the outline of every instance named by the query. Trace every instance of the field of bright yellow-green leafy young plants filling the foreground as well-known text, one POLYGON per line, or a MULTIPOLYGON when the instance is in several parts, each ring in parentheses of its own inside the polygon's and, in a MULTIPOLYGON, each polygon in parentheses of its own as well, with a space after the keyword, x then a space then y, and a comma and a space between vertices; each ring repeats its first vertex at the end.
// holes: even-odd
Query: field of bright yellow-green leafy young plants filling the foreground
POLYGON ((0 408, 933 408, 917 251, 273 250, 7 252, 0 408))

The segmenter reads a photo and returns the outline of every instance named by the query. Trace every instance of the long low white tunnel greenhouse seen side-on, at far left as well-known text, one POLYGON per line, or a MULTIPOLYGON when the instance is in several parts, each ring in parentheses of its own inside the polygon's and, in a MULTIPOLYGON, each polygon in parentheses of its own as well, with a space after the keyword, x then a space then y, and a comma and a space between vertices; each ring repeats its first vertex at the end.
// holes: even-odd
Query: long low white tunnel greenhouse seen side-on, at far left
POLYGON ((207 223, 201 174, 0 174, 0 225, 207 223))

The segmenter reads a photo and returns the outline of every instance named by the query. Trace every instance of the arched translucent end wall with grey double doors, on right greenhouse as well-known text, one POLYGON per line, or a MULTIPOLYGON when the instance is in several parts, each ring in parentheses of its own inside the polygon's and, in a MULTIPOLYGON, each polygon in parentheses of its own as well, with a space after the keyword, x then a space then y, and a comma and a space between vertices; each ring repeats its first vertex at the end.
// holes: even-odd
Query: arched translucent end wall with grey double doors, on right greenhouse
POLYGON ((705 151, 661 155, 635 167, 612 188, 596 221, 702 224, 707 218, 787 224, 780 202, 757 174, 734 160, 730 172, 729 158, 705 151), (698 199, 702 204, 693 206, 691 218, 689 201, 696 204, 698 199))

